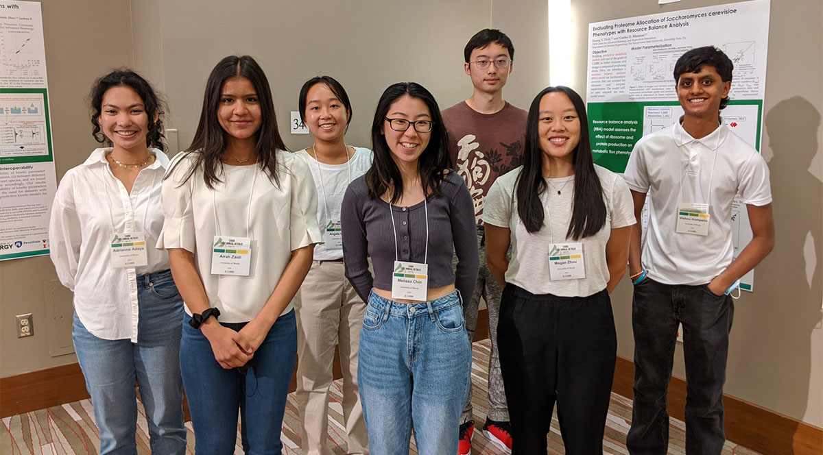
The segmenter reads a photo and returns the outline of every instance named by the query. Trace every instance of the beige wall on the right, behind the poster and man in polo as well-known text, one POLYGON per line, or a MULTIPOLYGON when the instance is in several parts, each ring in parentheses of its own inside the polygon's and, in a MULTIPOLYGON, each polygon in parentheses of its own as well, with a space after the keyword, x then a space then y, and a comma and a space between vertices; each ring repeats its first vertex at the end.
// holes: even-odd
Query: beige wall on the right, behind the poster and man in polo
MULTIPOLYGON (((572 1, 576 86, 586 83, 588 23, 719 5, 692 0, 572 1)), ((823 426, 823 6, 771 2, 763 156, 769 161, 777 244, 756 268, 755 292, 735 301, 724 392, 823 426)), ((732 81, 732 84, 734 82, 732 81)), ((672 99, 674 82, 672 81, 672 99)), ((612 294, 618 354, 631 359, 631 285, 612 294)), ((674 374, 685 378, 681 346, 674 374)))

